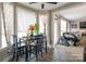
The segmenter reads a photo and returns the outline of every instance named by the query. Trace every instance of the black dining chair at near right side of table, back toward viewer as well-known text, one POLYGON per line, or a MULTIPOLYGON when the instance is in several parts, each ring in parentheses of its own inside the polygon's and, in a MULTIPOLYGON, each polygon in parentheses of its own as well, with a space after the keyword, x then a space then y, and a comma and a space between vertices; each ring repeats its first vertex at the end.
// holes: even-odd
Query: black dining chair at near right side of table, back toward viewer
POLYGON ((42 35, 34 36, 30 39, 29 57, 30 57, 30 54, 34 53, 36 56, 36 61, 38 61, 39 53, 41 53, 41 56, 42 56, 42 50, 44 50, 44 37, 42 37, 42 35))

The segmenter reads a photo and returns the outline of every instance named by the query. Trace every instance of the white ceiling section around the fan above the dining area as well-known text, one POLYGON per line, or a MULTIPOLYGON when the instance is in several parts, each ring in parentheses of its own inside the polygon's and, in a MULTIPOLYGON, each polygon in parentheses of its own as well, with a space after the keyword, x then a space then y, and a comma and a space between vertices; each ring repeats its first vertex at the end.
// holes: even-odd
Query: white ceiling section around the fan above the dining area
POLYGON ((66 4, 67 2, 58 2, 57 4, 52 4, 52 3, 46 3, 46 2, 36 2, 36 3, 32 3, 30 2, 20 2, 21 4, 27 5, 29 8, 33 8, 35 10, 41 11, 41 10, 53 10, 57 9, 61 5, 66 4), (45 4, 44 9, 41 9, 41 4, 45 4))

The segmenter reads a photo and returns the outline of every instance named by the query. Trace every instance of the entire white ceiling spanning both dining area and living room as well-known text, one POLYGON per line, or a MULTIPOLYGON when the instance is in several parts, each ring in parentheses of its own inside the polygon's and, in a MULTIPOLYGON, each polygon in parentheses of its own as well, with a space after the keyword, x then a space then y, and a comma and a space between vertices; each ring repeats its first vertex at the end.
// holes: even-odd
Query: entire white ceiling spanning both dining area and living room
POLYGON ((33 4, 29 4, 29 2, 20 3, 38 11, 48 11, 57 9, 63 17, 70 21, 77 21, 83 17, 86 17, 86 2, 58 2, 57 4, 46 2, 38 2, 33 4), (44 9, 41 9, 42 3, 45 4, 44 9))

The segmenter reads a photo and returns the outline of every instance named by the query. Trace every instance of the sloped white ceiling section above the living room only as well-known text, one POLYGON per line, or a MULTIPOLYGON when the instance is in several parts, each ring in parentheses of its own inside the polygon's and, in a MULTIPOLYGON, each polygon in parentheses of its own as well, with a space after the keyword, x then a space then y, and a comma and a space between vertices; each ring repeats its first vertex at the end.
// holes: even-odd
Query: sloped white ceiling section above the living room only
POLYGON ((77 21, 86 17, 86 3, 81 3, 76 7, 74 5, 66 10, 60 11, 60 14, 71 21, 77 21))

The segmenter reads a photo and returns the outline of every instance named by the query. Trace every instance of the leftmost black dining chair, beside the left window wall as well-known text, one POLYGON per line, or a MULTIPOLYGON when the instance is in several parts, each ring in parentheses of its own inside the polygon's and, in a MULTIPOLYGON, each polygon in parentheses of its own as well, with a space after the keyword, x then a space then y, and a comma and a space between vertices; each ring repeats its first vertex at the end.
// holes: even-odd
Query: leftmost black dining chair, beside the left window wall
POLYGON ((21 44, 21 39, 17 42, 17 36, 13 35, 13 60, 15 59, 15 61, 19 61, 19 56, 24 54, 25 52, 25 46, 21 44))

